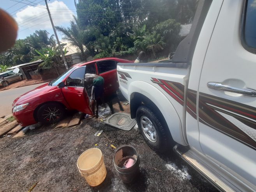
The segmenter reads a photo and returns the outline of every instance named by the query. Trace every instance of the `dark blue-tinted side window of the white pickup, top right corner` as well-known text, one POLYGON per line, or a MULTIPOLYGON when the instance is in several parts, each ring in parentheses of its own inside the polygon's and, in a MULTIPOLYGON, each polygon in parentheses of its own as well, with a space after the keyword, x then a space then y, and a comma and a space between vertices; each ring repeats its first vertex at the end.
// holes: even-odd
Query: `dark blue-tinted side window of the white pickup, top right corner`
POLYGON ((256 1, 248 0, 244 25, 244 39, 247 46, 256 49, 256 1))

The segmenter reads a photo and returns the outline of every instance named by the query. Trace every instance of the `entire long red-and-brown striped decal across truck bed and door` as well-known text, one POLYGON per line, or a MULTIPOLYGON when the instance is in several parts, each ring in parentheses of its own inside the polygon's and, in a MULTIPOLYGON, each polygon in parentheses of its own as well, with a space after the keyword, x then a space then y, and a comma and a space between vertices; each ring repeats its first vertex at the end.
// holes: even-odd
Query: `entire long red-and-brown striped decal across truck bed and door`
MULTIPOLYGON (((168 95, 184 105, 184 85, 163 79, 152 78, 168 95)), ((197 119, 196 96, 194 90, 187 90, 187 112, 197 119)), ((199 93, 199 122, 215 129, 250 148, 256 150, 256 108, 199 93)))

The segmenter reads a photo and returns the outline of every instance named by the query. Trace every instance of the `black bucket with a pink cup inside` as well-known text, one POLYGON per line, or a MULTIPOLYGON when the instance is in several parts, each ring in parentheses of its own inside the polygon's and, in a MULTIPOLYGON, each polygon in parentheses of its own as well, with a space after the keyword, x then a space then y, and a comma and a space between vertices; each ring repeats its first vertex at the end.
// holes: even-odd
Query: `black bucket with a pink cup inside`
POLYGON ((114 155, 114 166, 124 183, 132 183, 139 173, 139 156, 131 146, 119 148, 114 155))

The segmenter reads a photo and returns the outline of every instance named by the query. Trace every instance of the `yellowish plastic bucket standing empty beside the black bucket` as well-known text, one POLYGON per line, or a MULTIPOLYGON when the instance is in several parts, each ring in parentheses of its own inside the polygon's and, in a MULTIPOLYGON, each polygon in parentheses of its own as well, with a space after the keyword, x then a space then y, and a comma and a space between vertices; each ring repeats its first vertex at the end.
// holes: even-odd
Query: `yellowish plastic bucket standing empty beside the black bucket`
POLYGON ((81 176, 92 187, 100 185, 106 178, 107 171, 103 155, 98 148, 91 148, 83 152, 79 156, 76 165, 81 176))

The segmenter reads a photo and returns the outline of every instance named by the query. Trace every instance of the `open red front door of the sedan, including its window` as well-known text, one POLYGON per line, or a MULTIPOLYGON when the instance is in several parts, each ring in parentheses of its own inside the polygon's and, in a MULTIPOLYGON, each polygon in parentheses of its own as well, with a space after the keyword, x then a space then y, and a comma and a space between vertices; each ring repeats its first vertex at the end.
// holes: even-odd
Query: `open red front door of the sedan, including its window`
POLYGON ((62 94, 72 109, 91 114, 89 97, 84 86, 85 67, 75 69, 67 78, 62 94))

